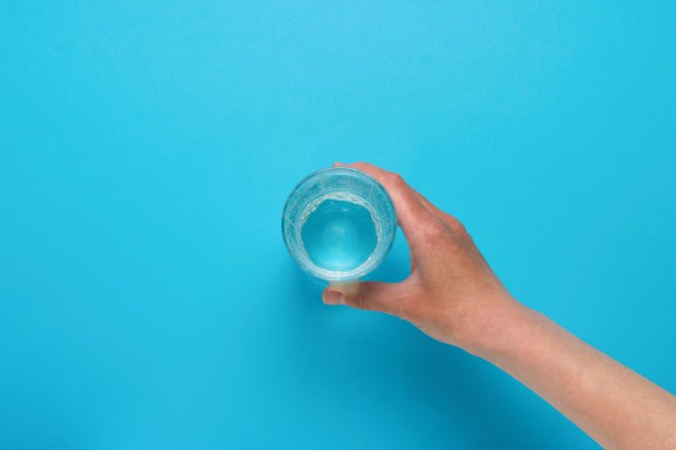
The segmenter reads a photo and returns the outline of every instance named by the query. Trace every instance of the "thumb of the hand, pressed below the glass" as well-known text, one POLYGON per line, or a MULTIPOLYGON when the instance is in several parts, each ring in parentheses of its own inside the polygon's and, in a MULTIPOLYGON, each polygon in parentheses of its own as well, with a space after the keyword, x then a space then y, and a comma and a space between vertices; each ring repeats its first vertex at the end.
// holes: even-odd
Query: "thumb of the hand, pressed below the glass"
POLYGON ((322 300, 327 305, 344 304, 357 309, 394 313, 401 297, 402 287, 398 283, 374 281, 350 285, 329 285, 322 293, 322 300))

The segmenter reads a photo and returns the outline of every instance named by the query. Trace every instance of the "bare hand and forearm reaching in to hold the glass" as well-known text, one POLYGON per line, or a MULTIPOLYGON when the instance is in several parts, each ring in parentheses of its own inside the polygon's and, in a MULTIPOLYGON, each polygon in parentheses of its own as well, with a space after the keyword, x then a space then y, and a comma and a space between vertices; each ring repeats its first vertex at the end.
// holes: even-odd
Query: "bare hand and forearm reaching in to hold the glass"
MULTIPOLYGON (((335 165, 342 165, 336 163, 335 165)), ((515 300, 463 224, 401 176, 346 165, 390 193, 411 253, 400 283, 329 285, 327 305, 401 317, 501 367, 606 448, 676 448, 676 397, 515 300)))

